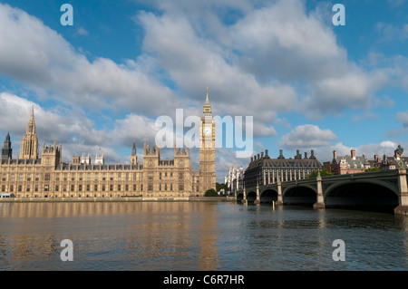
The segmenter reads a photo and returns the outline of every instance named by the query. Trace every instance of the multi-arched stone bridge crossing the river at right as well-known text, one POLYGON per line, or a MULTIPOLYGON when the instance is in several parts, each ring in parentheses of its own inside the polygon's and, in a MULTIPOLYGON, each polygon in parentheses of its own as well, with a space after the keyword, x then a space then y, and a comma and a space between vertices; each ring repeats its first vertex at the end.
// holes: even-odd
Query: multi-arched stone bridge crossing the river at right
POLYGON ((408 215, 407 171, 390 169, 257 184, 238 192, 237 201, 315 208, 364 207, 408 215))

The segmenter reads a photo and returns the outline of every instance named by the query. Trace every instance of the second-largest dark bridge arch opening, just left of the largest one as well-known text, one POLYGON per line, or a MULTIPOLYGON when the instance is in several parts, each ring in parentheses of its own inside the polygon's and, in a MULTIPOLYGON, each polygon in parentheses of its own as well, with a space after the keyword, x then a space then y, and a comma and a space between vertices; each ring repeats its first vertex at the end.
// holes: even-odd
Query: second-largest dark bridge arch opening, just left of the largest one
POLYGON ((313 206, 316 201, 316 188, 307 184, 290 186, 282 192, 284 205, 313 206))

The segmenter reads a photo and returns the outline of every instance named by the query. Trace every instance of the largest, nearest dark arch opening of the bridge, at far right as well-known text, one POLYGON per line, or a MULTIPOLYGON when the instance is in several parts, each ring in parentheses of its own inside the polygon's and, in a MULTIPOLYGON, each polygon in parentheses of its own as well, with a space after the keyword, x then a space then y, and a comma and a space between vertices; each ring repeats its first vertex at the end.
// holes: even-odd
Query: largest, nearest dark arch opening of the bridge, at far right
POLYGON ((399 189, 389 181, 347 180, 325 189, 325 207, 393 211, 399 205, 399 189))

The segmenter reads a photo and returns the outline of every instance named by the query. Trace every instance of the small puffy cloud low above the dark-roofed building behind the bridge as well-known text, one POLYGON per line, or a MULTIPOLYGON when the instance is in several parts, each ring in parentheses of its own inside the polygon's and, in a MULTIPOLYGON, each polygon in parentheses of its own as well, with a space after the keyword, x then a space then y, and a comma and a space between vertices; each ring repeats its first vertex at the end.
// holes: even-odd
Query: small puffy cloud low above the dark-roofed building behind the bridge
POLYGON ((321 130, 316 125, 305 124, 282 136, 279 146, 286 149, 314 149, 328 146, 331 141, 337 140, 331 130, 321 130))

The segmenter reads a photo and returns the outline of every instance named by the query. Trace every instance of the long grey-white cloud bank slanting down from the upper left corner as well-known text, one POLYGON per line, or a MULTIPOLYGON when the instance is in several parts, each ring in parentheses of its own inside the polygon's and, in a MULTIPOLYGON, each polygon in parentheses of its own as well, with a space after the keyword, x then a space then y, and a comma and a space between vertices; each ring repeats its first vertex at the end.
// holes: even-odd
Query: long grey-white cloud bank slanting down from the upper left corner
POLYGON ((0 4, 0 38, 0 73, 54 92, 68 105, 100 109, 113 103, 156 114, 180 103, 168 87, 126 63, 89 62, 39 19, 9 5, 0 4))

